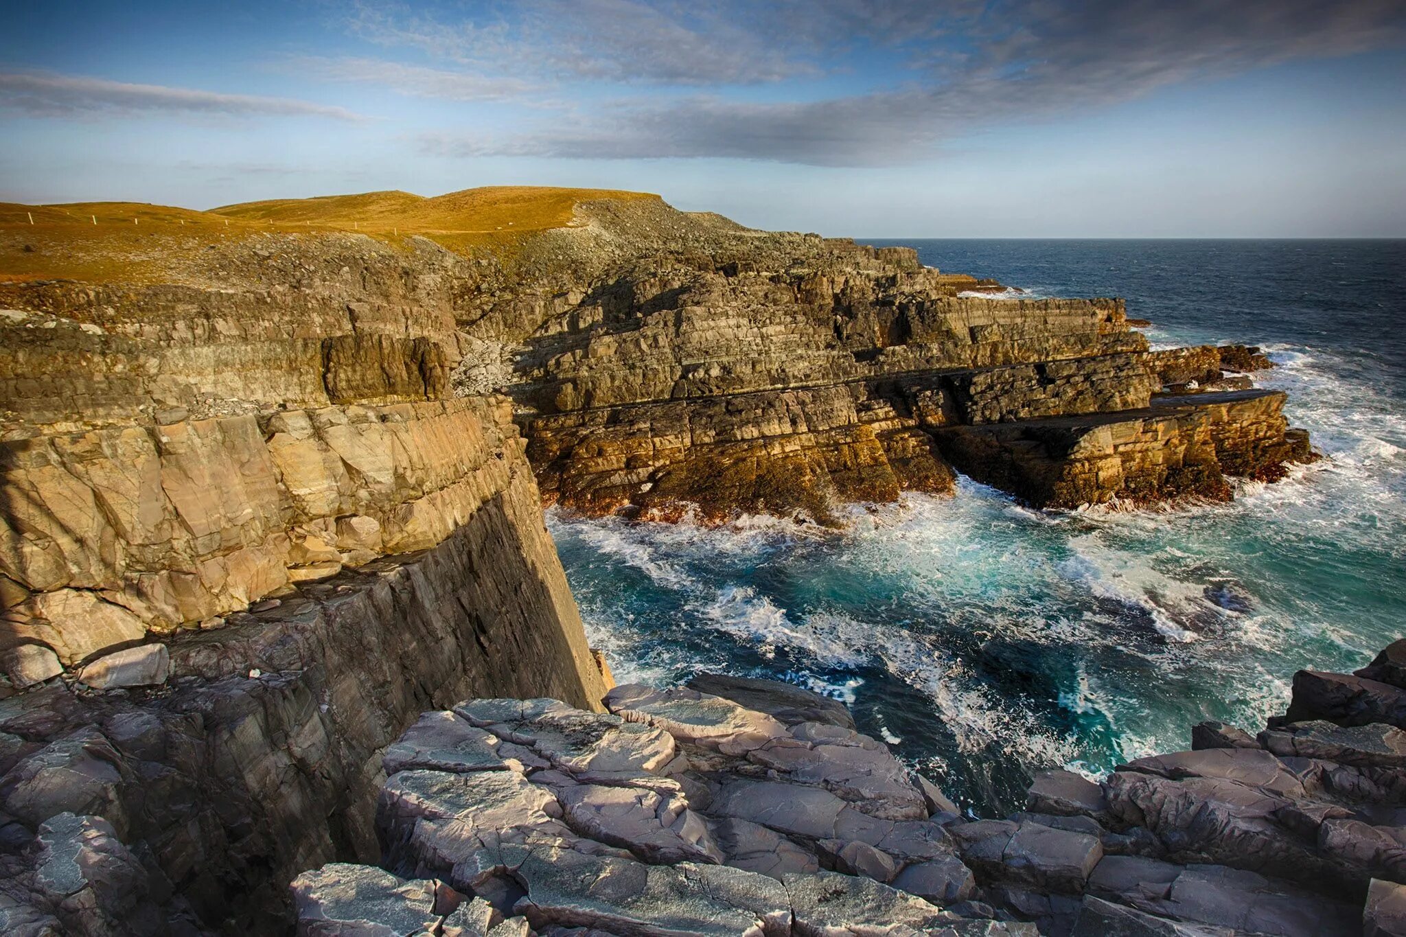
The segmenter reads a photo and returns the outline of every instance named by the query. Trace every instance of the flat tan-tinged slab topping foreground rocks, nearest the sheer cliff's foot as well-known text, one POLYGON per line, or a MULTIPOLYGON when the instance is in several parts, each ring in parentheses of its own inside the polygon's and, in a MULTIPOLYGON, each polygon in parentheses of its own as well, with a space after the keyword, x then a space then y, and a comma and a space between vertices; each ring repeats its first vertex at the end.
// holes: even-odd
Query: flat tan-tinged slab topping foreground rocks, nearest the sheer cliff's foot
POLYGON ((610 712, 631 722, 654 725, 681 742, 724 754, 747 754, 769 739, 789 736, 786 726, 765 712, 688 687, 655 690, 633 683, 607 693, 605 702, 610 712))

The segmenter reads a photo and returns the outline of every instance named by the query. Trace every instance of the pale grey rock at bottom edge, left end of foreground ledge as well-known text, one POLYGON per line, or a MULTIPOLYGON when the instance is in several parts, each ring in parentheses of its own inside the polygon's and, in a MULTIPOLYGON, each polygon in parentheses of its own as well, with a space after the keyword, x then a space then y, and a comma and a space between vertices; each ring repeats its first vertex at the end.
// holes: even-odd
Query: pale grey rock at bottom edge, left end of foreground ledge
POLYGON ((441 920, 436 882, 405 881, 370 865, 329 863, 298 875, 291 888, 299 934, 405 937, 433 933, 441 920))

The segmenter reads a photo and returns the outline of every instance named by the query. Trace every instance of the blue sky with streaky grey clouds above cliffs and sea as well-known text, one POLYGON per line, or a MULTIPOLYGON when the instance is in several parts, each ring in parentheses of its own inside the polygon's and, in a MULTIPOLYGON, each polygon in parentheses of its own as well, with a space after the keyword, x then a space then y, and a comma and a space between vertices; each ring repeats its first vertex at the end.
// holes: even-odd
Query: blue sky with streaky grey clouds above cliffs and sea
POLYGON ((6 4, 0 201, 583 185, 858 237, 1406 236, 1403 0, 6 4))

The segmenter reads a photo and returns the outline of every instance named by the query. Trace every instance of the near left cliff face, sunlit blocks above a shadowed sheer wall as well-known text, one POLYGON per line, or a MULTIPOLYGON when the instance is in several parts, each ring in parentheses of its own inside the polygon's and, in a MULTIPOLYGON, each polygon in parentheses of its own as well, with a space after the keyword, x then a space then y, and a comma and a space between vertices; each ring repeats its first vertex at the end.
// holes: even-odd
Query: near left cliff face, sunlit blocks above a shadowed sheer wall
POLYGON ((114 933, 277 933, 309 860, 378 856, 416 714, 607 684, 430 267, 166 236, 162 282, 0 284, 0 861, 97 815, 145 882, 114 933))

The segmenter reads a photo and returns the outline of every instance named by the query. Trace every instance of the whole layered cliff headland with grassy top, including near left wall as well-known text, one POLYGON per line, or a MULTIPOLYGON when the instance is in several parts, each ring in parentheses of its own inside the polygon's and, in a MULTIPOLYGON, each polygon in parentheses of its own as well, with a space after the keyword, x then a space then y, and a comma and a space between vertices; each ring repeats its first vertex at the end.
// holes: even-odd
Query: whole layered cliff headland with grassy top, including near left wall
POLYGON ((138 930, 287 924, 295 872, 378 856, 416 714, 600 707, 544 502, 1227 497, 1309 455, 1250 350, 1000 289, 628 192, 0 205, 8 871, 65 818, 138 930))

